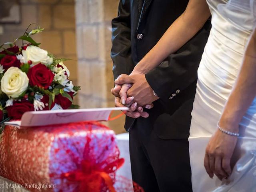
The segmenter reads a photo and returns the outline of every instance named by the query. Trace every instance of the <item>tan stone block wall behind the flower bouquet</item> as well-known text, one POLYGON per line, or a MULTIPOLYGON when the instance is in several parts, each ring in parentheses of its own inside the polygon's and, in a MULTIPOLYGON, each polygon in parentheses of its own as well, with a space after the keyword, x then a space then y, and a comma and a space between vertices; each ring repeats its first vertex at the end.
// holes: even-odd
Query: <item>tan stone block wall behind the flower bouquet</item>
POLYGON ((70 70, 70 79, 77 82, 76 26, 74 0, 20 0, 20 24, 2 25, 0 44, 21 36, 29 24, 38 23, 44 32, 34 39, 41 42, 41 48, 59 58, 70 58, 65 62, 70 70))

